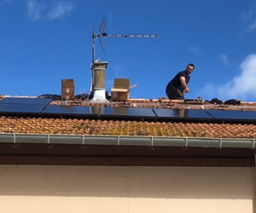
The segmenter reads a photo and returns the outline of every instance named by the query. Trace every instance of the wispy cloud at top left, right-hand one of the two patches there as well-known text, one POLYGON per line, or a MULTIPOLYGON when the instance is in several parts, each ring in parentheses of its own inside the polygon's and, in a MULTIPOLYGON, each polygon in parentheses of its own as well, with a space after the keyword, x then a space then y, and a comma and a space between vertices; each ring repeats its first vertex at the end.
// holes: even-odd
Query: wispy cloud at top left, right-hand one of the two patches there
POLYGON ((74 9, 73 5, 70 3, 58 3, 55 7, 52 7, 47 17, 49 19, 57 19, 63 15, 70 14, 70 12, 74 9))

